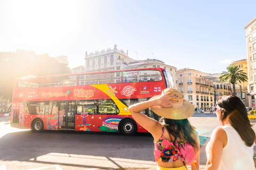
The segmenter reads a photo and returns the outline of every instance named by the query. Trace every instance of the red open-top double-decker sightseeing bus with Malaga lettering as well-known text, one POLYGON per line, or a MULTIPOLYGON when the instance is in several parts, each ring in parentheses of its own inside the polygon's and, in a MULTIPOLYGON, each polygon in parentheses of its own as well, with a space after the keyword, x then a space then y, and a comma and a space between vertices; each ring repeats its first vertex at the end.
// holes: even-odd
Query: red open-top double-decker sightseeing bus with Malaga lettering
MULTIPOLYGON (((172 87, 158 67, 19 78, 14 84, 11 126, 43 130, 147 132, 128 107, 172 87)), ((149 109, 144 114, 154 117, 149 109)))

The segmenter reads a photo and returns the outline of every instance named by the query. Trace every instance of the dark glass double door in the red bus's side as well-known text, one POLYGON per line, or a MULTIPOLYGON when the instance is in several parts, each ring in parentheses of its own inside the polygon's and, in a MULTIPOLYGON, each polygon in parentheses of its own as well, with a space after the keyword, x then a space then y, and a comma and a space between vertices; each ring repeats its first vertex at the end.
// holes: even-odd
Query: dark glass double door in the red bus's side
POLYGON ((75 129, 75 101, 60 101, 59 129, 75 129))

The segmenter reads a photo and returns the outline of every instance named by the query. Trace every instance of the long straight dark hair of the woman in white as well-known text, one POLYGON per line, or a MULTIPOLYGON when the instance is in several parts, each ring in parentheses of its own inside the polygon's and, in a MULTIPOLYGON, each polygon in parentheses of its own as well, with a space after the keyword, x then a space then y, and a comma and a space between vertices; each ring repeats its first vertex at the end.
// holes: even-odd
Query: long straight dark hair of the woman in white
POLYGON ((222 96, 217 100, 217 105, 225 109, 221 111, 221 121, 229 116, 229 123, 238 132, 245 145, 252 146, 255 140, 255 133, 242 100, 234 95, 222 96))

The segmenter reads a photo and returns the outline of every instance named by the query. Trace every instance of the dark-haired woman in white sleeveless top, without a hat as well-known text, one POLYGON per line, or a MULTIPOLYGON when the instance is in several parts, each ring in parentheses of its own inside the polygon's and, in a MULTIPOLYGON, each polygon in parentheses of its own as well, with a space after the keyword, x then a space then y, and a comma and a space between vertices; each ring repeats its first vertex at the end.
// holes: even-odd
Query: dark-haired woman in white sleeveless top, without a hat
POLYGON ((206 145, 206 169, 255 169, 255 133, 241 99, 223 96, 217 101, 216 115, 222 126, 214 129, 206 145))

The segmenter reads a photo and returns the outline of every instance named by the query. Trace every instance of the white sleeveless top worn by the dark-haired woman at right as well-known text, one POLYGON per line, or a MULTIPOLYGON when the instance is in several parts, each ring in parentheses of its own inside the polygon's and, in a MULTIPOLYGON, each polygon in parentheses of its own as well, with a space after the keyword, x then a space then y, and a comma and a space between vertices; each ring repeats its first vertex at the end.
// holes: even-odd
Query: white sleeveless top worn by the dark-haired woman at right
MULTIPOLYGON (((227 133, 227 145, 222 150, 220 158, 220 165, 218 170, 253 170, 253 145, 247 147, 245 142, 241 139, 237 131, 232 126, 221 126, 227 133)), ((210 140, 211 142, 211 140, 210 140)), ((209 143, 206 145, 206 157, 209 158, 209 143)))

